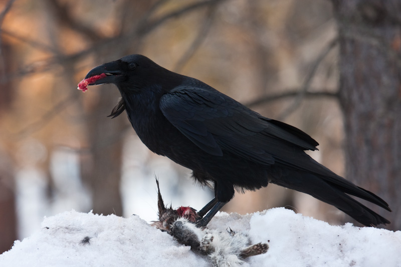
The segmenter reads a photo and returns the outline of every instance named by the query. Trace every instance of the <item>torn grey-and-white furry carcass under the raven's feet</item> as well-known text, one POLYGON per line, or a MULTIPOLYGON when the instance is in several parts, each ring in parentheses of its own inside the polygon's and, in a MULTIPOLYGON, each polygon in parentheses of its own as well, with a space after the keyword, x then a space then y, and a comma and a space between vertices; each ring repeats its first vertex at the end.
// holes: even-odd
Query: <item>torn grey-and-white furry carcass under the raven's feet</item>
POLYGON ((269 249, 267 243, 251 244, 248 235, 235 232, 198 228, 193 223, 196 211, 190 207, 179 207, 174 210, 164 206, 158 188, 159 221, 153 225, 167 231, 179 243, 188 245, 191 250, 207 256, 214 267, 237 267, 241 266, 246 258, 266 253, 269 249))

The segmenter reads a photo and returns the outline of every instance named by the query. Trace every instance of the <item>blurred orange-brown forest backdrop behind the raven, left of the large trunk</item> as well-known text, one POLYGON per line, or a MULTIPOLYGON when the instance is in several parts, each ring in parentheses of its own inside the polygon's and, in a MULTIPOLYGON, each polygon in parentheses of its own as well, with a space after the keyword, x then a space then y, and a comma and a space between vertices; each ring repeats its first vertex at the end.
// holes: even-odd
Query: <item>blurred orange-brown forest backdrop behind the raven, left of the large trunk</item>
MULTIPOLYGON (((310 155, 344 176, 336 5, 0 1, 0 250, 39 229, 44 216, 65 210, 156 220, 155 177, 173 207, 200 209, 212 199, 212 190, 194 184, 189 170, 148 151, 125 113, 107 118, 119 98, 113 85, 76 89, 91 68, 128 54, 143 54, 302 129, 320 143, 310 155)), ((245 214, 277 206, 333 224, 349 221, 334 207, 273 184, 236 193, 223 210, 245 214)))

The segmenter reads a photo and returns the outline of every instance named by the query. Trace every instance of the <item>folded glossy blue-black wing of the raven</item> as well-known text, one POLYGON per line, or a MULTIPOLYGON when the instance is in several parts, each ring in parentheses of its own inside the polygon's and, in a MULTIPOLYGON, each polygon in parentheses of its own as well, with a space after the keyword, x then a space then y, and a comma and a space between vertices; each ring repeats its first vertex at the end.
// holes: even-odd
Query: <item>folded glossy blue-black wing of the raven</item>
POLYGON ((301 130, 265 118, 213 88, 177 87, 161 97, 159 107, 183 135, 212 155, 226 150, 271 165, 318 145, 301 130))

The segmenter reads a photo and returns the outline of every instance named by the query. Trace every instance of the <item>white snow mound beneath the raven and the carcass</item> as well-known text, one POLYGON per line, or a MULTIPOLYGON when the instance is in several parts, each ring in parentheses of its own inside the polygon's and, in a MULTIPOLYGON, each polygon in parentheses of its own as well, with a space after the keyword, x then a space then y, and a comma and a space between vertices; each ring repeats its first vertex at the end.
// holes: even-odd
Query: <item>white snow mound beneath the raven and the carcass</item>
MULTIPOLYGON (((266 254, 244 266, 401 266, 401 231, 332 226, 273 208, 247 215, 221 212, 209 228, 228 227, 267 242, 266 254)), ((47 217, 42 228, 0 255, 0 266, 211 266, 136 215, 129 218, 76 211, 47 217), (81 242, 86 236, 89 243, 81 242)))

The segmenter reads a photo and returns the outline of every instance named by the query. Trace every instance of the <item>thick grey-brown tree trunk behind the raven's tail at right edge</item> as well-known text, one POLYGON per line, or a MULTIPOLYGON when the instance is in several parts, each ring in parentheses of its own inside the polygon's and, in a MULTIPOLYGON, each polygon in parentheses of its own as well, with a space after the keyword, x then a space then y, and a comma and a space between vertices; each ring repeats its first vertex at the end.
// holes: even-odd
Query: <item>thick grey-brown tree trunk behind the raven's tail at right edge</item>
POLYGON ((401 1, 333 0, 346 177, 387 201, 401 229, 401 1))

